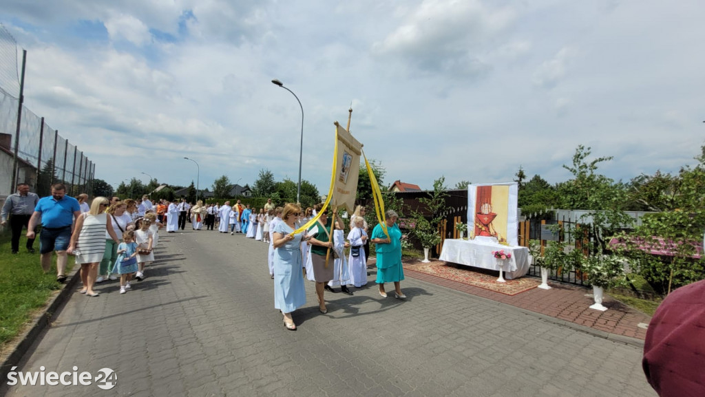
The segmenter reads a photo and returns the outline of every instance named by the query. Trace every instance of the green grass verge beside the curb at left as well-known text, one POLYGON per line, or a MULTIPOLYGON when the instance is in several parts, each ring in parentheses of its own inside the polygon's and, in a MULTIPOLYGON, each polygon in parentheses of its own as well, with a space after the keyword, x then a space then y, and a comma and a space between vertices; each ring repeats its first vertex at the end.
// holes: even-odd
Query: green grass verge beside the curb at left
MULTIPOLYGON (((20 239, 20 253, 13 255, 9 231, 0 234, 0 350, 20 334, 32 312, 47 304, 52 291, 61 289, 56 282, 56 259, 49 274, 44 274, 39 264, 39 240, 35 241, 35 254, 25 250, 25 242, 25 237, 20 239)), ((70 257, 66 271, 72 267, 70 257)))

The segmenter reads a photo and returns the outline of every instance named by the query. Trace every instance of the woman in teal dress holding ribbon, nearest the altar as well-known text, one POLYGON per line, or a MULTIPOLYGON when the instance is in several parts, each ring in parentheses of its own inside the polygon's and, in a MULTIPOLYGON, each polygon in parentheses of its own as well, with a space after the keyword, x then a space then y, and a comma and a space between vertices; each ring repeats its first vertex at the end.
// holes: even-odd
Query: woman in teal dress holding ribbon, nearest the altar
POLYGON ((377 253, 377 280, 379 284, 379 295, 386 298, 384 292, 384 283, 394 283, 394 297, 404 299, 406 295, 401 292, 399 282, 404 279, 404 269, 401 265, 401 240, 405 239, 396 224, 399 218, 396 212, 388 210, 384 213, 386 216, 387 233, 384 234, 382 224, 374 226, 372 231, 372 243, 377 253))

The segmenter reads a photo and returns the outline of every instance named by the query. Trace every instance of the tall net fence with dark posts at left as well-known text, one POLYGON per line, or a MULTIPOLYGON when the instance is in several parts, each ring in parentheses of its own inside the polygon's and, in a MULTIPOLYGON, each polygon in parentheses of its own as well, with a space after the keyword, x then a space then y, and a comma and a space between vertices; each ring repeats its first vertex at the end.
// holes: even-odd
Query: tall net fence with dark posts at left
POLYGON ((14 192, 13 178, 40 196, 49 195, 52 183, 64 183, 69 195, 92 194, 93 162, 26 106, 18 135, 19 68, 17 43, 0 24, 0 204, 14 192))

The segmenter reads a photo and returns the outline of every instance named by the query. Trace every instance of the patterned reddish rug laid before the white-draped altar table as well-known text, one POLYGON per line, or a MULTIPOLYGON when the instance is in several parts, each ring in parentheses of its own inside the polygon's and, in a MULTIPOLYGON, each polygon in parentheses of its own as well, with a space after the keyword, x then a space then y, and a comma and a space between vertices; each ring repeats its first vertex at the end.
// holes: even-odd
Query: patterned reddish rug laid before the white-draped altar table
POLYGON ((515 280, 507 280, 505 283, 498 283, 497 278, 499 277, 499 271, 465 267, 462 265, 456 267, 453 264, 441 261, 423 263, 420 259, 405 259, 404 269, 430 274, 431 276, 440 277, 441 279, 457 281, 458 283, 484 288, 506 295, 517 295, 517 293, 529 291, 532 288, 536 288, 541 283, 539 280, 529 277, 520 277, 515 280))

